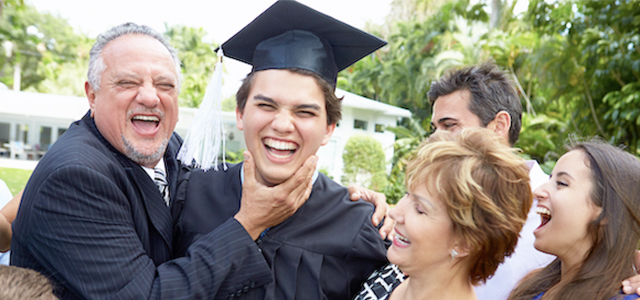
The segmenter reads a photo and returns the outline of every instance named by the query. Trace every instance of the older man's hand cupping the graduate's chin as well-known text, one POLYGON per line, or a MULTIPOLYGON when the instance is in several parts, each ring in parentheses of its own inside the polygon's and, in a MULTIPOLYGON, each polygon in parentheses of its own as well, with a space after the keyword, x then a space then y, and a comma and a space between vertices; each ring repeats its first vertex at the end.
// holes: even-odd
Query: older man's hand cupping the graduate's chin
POLYGON ((267 187, 256 180, 253 154, 244 152, 244 182, 235 219, 256 240, 260 233, 292 216, 311 194, 318 157, 310 156, 287 181, 267 187))

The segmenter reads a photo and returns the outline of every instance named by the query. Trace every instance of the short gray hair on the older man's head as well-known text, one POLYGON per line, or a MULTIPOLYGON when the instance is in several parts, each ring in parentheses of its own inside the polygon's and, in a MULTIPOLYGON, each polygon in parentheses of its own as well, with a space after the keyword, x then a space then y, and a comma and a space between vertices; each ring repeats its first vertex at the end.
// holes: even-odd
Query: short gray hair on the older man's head
POLYGON ((176 67, 176 75, 178 76, 178 86, 177 91, 180 92, 180 58, 178 58, 178 52, 174 49, 169 41, 160 33, 153 30, 149 26, 138 25, 135 23, 124 23, 113 27, 103 33, 101 33, 96 39, 96 43, 91 47, 91 52, 89 53, 89 71, 87 72, 87 79, 91 88, 94 91, 98 91, 100 89, 100 77, 102 76, 102 72, 106 69, 104 65, 104 59, 102 58, 102 50, 104 47, 109 44, 109 42, 127 34, 143 34, 150 36, 156 40, 158 40, 162 45, 169 50, 169 54, 171 54, 171 58, 176 67))

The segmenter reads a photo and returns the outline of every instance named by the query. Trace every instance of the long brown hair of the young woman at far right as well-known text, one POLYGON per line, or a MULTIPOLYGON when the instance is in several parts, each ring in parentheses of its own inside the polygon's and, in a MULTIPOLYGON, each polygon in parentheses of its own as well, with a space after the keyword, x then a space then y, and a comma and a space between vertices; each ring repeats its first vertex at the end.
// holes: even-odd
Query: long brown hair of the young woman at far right
MULTIPOLYGON (((591 201, 602 208, 587 225, 594 241, 577 275, 554 293, 554 299, 611 299, 620 282, 635 275, 634 250, 640 240, 640 161, 602 141, 575 143, 569 150, 582 151, 591 170, 591 201)), ((510 300, 531 300, 560 282, 561 262, 527 275, 509 295, 510 300)), ((621 295, 618 295, 620 298, 621 295)))

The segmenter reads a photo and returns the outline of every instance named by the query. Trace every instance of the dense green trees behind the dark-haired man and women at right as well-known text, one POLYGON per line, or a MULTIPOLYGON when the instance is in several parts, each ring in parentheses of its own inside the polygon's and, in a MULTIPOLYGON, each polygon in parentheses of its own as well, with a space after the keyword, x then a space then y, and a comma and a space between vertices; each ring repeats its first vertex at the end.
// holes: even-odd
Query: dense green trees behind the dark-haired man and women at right
MULTIPOLYGON (((404 192, 403 163, 429 128, 430 82, 449 68, 493 60, 513 76, 525 111, 516 147, 547 172, 572 136, 602 136, 640 154, 640 1, 530 0, 514 13, 502 3, 490 29, 484 3, 397 0, 413 17, 396 17, 374 32, 389 45, 340 74, 338 85, 413 112, 398 136, 385 190, 404 192), (429 5, 426 5, 429 6, 429 5), (412 132, 412 134, 407 133, 412 132)), ((509 5, 510 3, 510 5, 509 5)), ((402 15, 396 13, 395 15, 402 15)), ((393 131, 393 130, 392 130, 393 131)))

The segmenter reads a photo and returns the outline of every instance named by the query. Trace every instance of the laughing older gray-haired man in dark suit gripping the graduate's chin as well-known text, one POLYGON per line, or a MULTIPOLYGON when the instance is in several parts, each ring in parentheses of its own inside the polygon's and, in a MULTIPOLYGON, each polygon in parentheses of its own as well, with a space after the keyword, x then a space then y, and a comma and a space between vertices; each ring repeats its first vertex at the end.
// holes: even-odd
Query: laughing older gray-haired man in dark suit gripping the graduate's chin
POLYGON ((317 158, 285 185, 245 180, 235 218, 172 259, 179 74, 146 26, 114 27, 93 46, 90 111, 42 158, 13 222, 11 263, 49 277, 61 299, 211 299, 272 280, 252 237, 304 203, 317 158))

